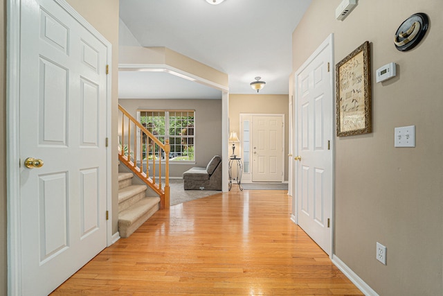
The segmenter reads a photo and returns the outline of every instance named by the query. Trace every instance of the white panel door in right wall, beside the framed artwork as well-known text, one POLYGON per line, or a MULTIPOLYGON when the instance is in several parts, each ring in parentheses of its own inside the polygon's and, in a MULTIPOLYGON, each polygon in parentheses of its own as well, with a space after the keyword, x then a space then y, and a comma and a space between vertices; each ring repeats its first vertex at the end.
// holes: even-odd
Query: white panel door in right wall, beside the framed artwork
POLYGON ((331 254, 332 36, 296 73, 298 225, 331 254))

